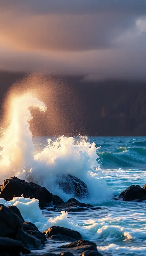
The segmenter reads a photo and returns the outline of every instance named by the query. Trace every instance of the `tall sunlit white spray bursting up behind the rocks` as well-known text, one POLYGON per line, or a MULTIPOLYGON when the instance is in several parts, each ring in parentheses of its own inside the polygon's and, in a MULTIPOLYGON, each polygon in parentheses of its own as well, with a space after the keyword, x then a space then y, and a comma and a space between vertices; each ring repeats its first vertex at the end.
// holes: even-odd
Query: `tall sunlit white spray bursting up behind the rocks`
POLYGON ((0 141, 1 183, 10 176, 17 176, 45 186, 50 192, 68 200, 71 195, 66 195, 55 183, 56 174, 67 173, 86 183, 90 202, 104 201, 110 196, 105 180, 100 178, 104 175, 97 162, 96 144, 89 143, 87 138, 62 136, 55 140, 48 139, 48 145, 40 153, 34 154, 29 129, 29 121, 33 118, 30 107, 43 112, 46 110, 45 104, 30 94, 12 100, 11 123, 3 130, 0 141))

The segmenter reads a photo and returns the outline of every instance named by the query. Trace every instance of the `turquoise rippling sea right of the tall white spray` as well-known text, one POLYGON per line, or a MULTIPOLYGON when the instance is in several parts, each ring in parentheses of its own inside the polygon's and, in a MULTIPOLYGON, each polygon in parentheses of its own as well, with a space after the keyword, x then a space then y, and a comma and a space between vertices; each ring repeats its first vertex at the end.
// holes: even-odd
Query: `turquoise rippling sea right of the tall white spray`
MULTIPOLYGON (((98 179, 106 182, 105 186, 112 195, 120 194, 130 185, 143 186, 146 183, 146 137, 88 137, 88 141, 99 147, 97 161, 101 177, 98 179)), ((41 138, 41 143, 40 138, 35 138, 34 143, 39 150, 47 144, 46 138, 41 138)), ((98 190, 98 199, 102 193, 104 188, 98 190)), ((100 203, 96 198, 90 203, 100 205, 101 210, 69 213, 67 216, 67 222, 72 223, 84 239, 95 241, 103 255, 146 255, 145 201, 114 201, 109 196, 100 203)), ((58 213, 44 211, 43 215, 55 218, 58 213)))

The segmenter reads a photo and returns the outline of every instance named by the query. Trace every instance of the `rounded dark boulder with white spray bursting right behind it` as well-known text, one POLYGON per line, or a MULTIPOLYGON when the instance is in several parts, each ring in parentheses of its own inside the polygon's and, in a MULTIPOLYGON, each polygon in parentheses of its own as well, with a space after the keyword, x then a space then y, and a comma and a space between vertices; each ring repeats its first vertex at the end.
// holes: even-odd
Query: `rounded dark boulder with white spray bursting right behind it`
POLYGON ((71 174, 58 174, 56 184, 64 193, 73 195, 78 199, 88 198, 89 196, 86 184, 71 174))

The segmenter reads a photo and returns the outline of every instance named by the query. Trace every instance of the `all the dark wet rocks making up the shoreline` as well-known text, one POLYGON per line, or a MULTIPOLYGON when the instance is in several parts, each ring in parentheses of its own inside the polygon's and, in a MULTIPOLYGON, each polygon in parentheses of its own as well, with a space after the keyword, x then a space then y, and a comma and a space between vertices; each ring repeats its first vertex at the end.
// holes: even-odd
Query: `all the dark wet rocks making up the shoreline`
MULTIPOLYGON (((69 179, 70 181, 73 179, 72 194, 76 195, 76 198, 88 197, 87 186, 82 181, 72 175, 69 176, 69 179)), ((69 186, 66 187, 65 182, 62 184, 64 191, 70 189, 69 186)), ((4 198, 6 201, 10 201, 14 196, 21 195, 38 199, 39 207, 47 208, 46 210, 48 211, 79 212, 100 209, 100 207, 81 203, 75 198, 64 202, 62 198, 53 195, 45 187, 33 182, 28 183, 16 177, 6 179, 0 186, 0 198, 4 198)), ((119 200, 121 198, 123 201, 146 200, 146 185, 143 188, 139 185, 130 186, 113 199, 119 200)), ((79 232, 59 226, 52 226, 48 230, 40 232, 33 223, 25 222, 16 206, 6 207, 0 204, 0 256, 17 256, 21 254, 29 254, 31 256, 101 256, 97 251, 97 245, 91 241, 83 240, 79 232), (58 246, 58 241, 63 245, 58 246), (45 243, 49 242, 56 245, 52 253, 40 254, 39 251, 38 253, 33 252, 34 249, 43 248, 45 243)))

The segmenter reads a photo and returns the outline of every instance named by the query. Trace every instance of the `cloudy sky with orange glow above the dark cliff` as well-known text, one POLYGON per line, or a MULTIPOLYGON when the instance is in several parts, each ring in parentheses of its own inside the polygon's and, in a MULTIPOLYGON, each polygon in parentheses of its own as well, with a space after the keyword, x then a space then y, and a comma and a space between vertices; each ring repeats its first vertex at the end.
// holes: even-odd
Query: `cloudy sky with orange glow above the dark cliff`
POLYGON ((146 0, 0 0, 0 70, 146 79, 146 0))

